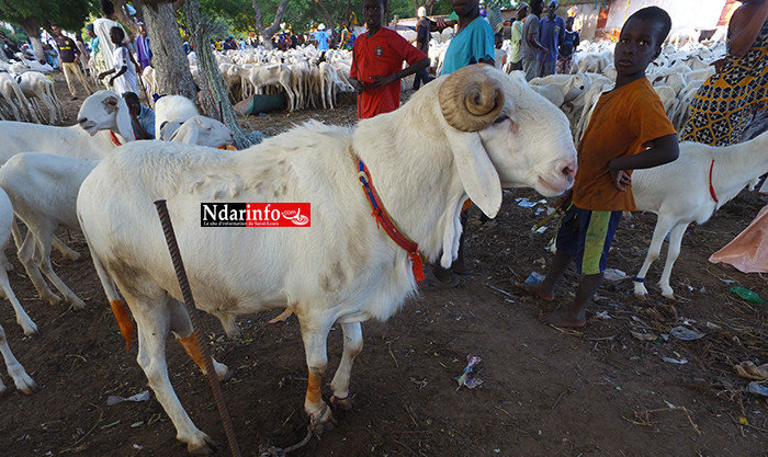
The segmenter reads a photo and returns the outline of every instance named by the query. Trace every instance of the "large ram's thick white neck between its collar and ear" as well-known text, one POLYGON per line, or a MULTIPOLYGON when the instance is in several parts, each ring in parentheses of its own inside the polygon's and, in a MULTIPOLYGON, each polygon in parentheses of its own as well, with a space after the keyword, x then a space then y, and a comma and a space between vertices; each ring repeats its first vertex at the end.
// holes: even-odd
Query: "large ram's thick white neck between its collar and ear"
POLYGON ((395 224, 437 260, 445 241, 458 240, 465 194, 444 135, 437 125, 423 128, 431 113, 408 108, 361 122, 353 148, 395 224))

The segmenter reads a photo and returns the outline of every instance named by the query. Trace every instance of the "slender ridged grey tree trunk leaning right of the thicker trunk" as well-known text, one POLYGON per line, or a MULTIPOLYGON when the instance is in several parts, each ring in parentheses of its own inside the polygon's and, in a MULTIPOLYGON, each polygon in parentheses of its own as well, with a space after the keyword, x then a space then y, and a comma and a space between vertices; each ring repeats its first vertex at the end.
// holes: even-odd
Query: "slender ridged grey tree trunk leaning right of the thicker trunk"
MULTIPOLYGON (((247 148, 255 141, 252 137, 242 132, 242 128, 237 123, 235 110, 229 103, 229 96, 224 84, 224 77, 218 69, 213 49, 211 49, 211 37, 200 18, 200 3, 197 0, 188 0, 184 3, 184 12, 187 14, 190 38, 197 56, 201 85, 200 103, 203 112, 206 116, 218 119, 229 127, 233 135, 235 135, 235 146, 238 149, 247 148)), ((178 27, 174 30, 178 30, 178 27)))

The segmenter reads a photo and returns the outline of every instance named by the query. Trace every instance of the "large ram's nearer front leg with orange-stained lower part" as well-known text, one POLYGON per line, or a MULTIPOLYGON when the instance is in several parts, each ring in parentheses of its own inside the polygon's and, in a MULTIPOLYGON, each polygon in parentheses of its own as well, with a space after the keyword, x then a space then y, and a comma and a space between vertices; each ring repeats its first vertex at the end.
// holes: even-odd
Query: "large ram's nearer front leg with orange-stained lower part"
POLYGON ((328 366, 328 355, 326 342, 330 324, 318 324, 310 319, 298 321, 302 325, 302 340, 304 340, 304 351, 306 352, 307 368, 309 379, 307 381, 307 392, 304 399, 304 411, 309 415, 309 426, 316 434, 323 433, 324 429, 332 426, 334 415, 328 404, 323 401, 323 375, 328 366))

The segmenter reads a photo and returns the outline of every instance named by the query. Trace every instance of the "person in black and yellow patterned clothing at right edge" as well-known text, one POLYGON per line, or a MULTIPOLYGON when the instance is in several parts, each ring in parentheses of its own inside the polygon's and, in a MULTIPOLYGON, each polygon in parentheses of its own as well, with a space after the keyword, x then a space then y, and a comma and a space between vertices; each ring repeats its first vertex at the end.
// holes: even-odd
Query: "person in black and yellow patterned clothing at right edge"
POLYGON ((684 141, 735 145, 768 104, 768 1, 745 0, 729 22, 725 62, 699 88, 684 141))

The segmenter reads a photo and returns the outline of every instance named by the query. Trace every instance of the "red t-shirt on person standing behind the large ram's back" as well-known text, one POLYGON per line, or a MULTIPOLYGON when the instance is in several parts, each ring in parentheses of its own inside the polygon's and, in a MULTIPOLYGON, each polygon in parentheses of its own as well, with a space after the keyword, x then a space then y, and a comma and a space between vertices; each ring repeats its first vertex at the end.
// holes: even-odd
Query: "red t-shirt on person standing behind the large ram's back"
MULTIPOLYGON (((427 57, 397 32, 382 27, 373 36, 364 33, 354 41, 354 59, 350 77, 362 82, 373 82, 374 76, 387 76, 403 69, 403 61, 411 65, 427 57)), ((358 119, 395 111, 400 105, 400 82, 382 89, 370 89, 360 95, 358 119)))

